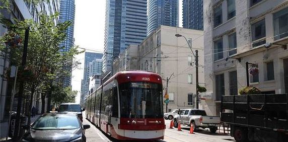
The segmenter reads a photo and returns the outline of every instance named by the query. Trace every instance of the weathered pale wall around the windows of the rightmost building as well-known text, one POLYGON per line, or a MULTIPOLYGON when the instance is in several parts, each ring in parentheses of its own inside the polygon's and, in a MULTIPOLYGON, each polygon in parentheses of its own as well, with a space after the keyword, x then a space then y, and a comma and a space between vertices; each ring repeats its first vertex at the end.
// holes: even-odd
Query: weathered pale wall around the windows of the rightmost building
MULTIPOLYGON (((288 50, 284 50, 280 45, 273 45, 266 49, 263 45, 252 48, 251 24, 265 18, 266 43, 275 42, 287 44, 285 38, 280 41, 274 41, 273 33, 273 13, 287 8, 287 1, 263 0, 260 3, 250 7, 250 1, 236 0, 236 16, 227 19, 227 1, 210 0, 203 1, 204 14, 204 56, 205 56, 205 83, 208 92, 212 92, 212 98, 215 98, 215 75, 224 74, 225 95, 230 94, 229 72, 237 70, 238 90, 246 86, 246 65, 245 62, 257 63, 259 68, 259 82, 250 85, 258 87, 261 91, 275 91, 275 93, 284 93, 283 81, 283 59, 288 58, 288 50), (213 27, 213 8, 222 6, 223 22, 217 27, 213 27), (237 36, 237 54, 228 55, 228 35, 236 32, 237 36), (214 61, 214 41, 223 39, 224 58, 214 61), (225 58, 234 57, 241 59, 225 58), (265 81, 266 62, 274 63, 274 80, 265 81)), ((220 101, 206 101, 209 111, 213 115, 219 115, 220 101)))

